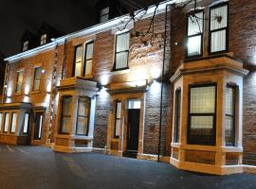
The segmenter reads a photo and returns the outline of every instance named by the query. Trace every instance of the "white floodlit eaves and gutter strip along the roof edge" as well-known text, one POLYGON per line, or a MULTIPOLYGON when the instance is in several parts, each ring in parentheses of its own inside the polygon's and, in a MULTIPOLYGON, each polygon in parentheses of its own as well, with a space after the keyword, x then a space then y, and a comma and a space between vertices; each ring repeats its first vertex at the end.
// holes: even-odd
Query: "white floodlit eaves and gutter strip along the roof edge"
MULTIPOLYGON (((171 4, 175 3, 176 1, 178 1, 178 0, 166 0, 164 2, 161 2, 156 11, 156 15, 164 12, 166 9, 166 6, 171 5, 171 4)), ((137 10, 136 13, 139 11, 141 11, 141 9, 137 10)), ((151 16, 154 13, 154 11, 155 11, 155 6, 149 7, 149 9, 147 10, 147 13, 143 16, 142 19, 148 18, 149 16, 151 16)), ((119 16, 117 18, 109 20, 108 22, 101 23, 96 26, 90 26, 90 27, 82 29, 80 31, 76 31, 76 32, 64 35, 63 37, 59 37, 57 39, 52 39, 51 43, 46 43, 45 45, 38 46, 36 48, 27 50, 25 52, 10 56, 10 57, 6 58, 5 60, 9 61, 9 62, 13 62, 16 60, 21 60, 21 59, 24 59, 27 57, 31 57, 32 55, 49 50, 49 49, 55 47, 57 44, 63 44, 66 40, 72 40, 74 38, 84 36, 84 35, 89 35, 89 34, 97 34, 102 31, 113 28, 114 26, 119 26, 121 24, 120 22, 123 19, 129 19, 129 18, 130 18, 129 14, 119 16)))

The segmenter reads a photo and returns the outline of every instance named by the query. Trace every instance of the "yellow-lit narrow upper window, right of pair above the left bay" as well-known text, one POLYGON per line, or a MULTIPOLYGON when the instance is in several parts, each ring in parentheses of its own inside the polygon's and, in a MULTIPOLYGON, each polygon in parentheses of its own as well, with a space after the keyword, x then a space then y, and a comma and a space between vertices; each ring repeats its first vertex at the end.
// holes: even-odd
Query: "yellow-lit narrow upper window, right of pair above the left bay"
POLYGON ((84 77, 91 76, 92 62, 93 62, 93 42, 90 42, 90 43, 86 43, 85 58, 84 58, 84 71, 83 71, 84 77))

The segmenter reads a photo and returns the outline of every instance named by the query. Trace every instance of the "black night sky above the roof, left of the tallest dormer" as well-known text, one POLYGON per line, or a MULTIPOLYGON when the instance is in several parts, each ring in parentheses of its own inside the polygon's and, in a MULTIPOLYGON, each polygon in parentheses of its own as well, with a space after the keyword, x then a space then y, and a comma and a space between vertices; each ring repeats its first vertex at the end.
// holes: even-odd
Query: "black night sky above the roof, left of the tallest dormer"
POLYGON ((20 50, 20 38, 28 29, 37 33, 46 21, 64 33, 95 23, 97 0, 0 0, 0 51, 6 56, 20 50))

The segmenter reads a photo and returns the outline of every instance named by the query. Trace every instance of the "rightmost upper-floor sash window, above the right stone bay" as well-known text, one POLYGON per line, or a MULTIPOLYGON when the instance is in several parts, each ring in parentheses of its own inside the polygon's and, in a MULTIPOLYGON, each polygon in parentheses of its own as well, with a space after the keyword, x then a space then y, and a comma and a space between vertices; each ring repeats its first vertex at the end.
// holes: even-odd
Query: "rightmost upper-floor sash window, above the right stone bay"
POLYGON ((210 8, 210 54, 228 50, 228 4, 210 8))

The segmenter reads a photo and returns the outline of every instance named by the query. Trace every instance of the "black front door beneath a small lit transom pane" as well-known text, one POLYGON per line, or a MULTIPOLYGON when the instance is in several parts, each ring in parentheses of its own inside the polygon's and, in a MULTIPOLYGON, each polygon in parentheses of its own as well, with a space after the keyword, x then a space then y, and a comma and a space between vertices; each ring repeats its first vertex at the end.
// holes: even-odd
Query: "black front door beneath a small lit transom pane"
POLYGON ((139 109, 128 109, 127 151, 137 151, 139 112, 139 109))

